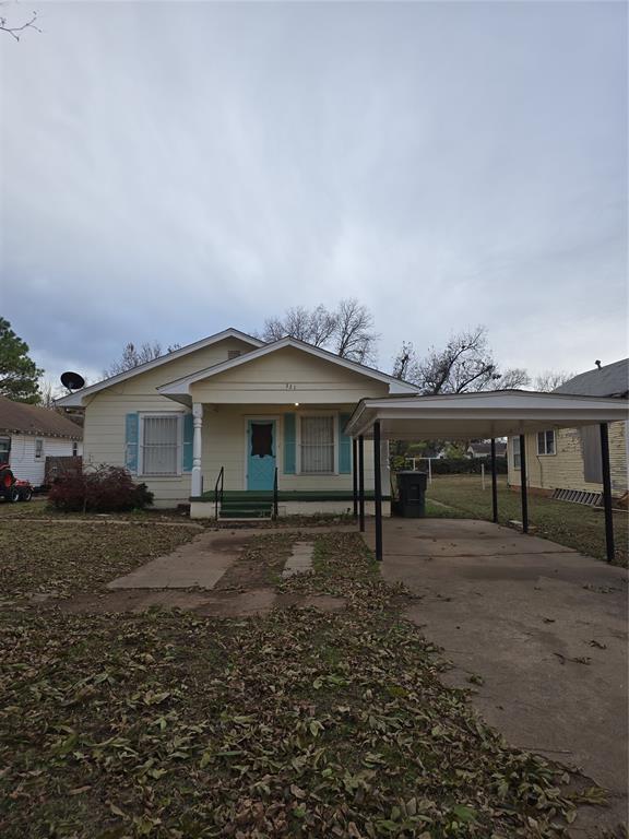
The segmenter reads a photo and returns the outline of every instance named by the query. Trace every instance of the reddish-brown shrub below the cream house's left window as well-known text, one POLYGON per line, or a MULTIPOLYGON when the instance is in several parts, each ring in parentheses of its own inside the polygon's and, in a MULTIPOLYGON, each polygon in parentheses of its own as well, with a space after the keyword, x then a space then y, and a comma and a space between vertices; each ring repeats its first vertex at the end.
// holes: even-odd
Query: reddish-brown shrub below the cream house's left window
POLYGON ((134 484, 126 469, 100 465, 64 472, 50 488, 48 500, 64 512, 123 512, 150 506, 153 493, 146 484, 134 484))

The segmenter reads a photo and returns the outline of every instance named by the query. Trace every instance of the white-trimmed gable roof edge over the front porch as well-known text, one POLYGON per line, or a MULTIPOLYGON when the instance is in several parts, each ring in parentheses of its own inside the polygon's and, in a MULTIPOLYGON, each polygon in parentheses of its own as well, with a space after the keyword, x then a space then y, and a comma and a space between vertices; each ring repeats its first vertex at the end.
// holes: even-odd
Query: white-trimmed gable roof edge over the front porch
POLYGON ((345 369, 352 370, 353 373, 358 373, 361 376, 366 376, 367 378, 382 381, 385 385, 389 385, 390 393, 414 394, 417 392, 417 388, 407 381, 402 381, 401 379, 396 379, 394 376, 390 376, 387 373, 381 373, 381 370, 377 370, 373 367, 367 367, 364 364, 358 364, 358 362, 351 362, 347 358, 341 358, 341 356, 335 355, 328 350, 322 350, 320 346, 313 346, 312 344, 307 344, 305 341, 299 341, 296 338, 289 336, 281 338, 278 341, 273 341, 270 344, 264 344, 258 350, 252 350, 246 355, 238 356, 238 358, 230 358, 227 362, 222 362, 221 364, 215 364, 212 367, 206 367, 204 370, 199 370, 198 373, 193 373, 190 376, 183 376, 180 379, 175 379, 175 381, 170 381, 157 388, 157 391, 165 397, 187 394, 189 392, 190 386, 195 381, 201 381, 212 376, 217 376, 219 373, 225 373, 226 370, 230 370, 234 367, 249 364, 249 362, 253 362, 256 358, 263 358, 270 353, 276 353, 278 350, 285 350, 286 347, 299 350, 304 353, 308 353, 309 355, 313 355, 317 358, 323 358, 323 361, 331 362, 339 367, 344 367, 345 369))

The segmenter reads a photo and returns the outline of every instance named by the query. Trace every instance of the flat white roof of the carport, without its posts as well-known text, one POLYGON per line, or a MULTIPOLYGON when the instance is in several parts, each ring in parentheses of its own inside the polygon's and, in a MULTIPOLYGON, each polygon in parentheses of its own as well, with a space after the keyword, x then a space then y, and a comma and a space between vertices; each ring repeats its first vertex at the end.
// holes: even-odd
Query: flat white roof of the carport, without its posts
POLYGON ((487 439, 627 418, 626 399, 496 390, 364 399, 345 430, 353 437, 370 438, 373 423, 379 421, 383 439, 487 439))

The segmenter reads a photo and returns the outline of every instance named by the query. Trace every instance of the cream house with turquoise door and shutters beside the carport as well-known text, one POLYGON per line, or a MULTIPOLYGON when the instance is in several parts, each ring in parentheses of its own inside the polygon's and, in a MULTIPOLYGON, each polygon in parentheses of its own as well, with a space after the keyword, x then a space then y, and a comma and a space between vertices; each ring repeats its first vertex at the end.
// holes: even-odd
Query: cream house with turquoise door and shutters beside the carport
MULTIPOLYGON (((265 344, 227 329, 58 404, 84 409, 85 463, 126 465, 147 484, 156 506, 190 501, 193 518, 210 518, 222 483, 223 515, 262 515, 275 475, 281 513, 347 510, 352 441, 343 429, 349 414, 365 397, 415 392, 301 341, 265 344)), ((366 442, 371 494, 372 463, 366 442)), ((389 486, 388 471, 382 485, 389 486)))

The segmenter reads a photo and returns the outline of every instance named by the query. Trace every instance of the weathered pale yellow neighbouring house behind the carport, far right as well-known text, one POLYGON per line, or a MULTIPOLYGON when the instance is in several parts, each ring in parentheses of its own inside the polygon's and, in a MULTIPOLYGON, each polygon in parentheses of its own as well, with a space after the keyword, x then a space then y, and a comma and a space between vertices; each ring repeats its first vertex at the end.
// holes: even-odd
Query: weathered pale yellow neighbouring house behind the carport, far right
MULTIPOLYGON (((554 392, 582 397, 627 398, 629 358, 582 373, 554 392)), ((612 492, 627 492, 628 423, 609 425, 612 492)), ((509 439, 509 484, 520 486, 520 438, 509 439)), ((532 488, 550 494, 555 489, 601 493, 601 436, 597 425, 539 432, 526 435, 526 473, 532 488)))

